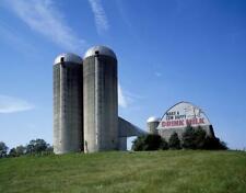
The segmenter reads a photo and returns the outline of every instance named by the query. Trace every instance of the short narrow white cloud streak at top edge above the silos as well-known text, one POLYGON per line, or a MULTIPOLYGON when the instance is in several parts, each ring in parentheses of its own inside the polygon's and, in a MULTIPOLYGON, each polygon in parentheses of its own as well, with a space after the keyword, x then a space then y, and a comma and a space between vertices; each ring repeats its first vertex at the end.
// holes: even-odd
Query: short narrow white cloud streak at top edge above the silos
POLYGON ((94 13, 97 32, 101 34, 103 31, 107 31, 109 25, 101 0, 89 0, 89 2, 94 13))

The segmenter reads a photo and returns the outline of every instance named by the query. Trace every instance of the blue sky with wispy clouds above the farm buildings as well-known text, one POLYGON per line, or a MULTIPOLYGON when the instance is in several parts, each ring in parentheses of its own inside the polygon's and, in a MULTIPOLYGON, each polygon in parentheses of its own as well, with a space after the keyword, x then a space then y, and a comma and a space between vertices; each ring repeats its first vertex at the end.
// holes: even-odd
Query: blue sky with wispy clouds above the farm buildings
POLYGON ((55 57, 103 44, 118 57, 122 117, 145 129, 189 101, 243 149, 245 21, 244 0, 1 0, 0 140, 52 144, 55 57))

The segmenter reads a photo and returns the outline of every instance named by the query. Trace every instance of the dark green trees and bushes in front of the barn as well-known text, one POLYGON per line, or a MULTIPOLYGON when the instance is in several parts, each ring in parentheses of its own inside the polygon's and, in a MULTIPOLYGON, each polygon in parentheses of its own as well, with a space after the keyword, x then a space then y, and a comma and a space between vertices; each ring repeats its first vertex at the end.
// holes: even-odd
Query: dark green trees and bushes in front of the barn
POLYGON ((226 144, 220 138, 208 136, 200 126, 194 128, 187 126, 179 138, 177 133, 173 133, 166 141, 160 135, 149 134, 136 138, 132 143, 132 150, 166 150, 166 149, 206 149, 206 150, 225 150, 226 144))

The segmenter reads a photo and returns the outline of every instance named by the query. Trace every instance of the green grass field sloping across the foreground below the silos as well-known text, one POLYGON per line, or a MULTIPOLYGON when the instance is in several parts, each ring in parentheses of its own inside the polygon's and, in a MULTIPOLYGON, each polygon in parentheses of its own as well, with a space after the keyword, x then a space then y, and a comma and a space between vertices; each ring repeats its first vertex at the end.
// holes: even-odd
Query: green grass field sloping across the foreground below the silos
POLYGON ((246 152, 115 151, 0 159, 0 192, 245 193, 246 152))

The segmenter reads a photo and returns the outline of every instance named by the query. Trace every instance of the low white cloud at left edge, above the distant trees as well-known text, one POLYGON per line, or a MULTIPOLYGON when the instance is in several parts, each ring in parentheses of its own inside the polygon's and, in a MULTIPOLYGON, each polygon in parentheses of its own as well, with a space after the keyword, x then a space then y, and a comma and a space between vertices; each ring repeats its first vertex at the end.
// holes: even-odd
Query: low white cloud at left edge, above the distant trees
POLYGON ((0 113, 16 113, 34 109, 34 105, 25 100, 0 94, 0 113))

